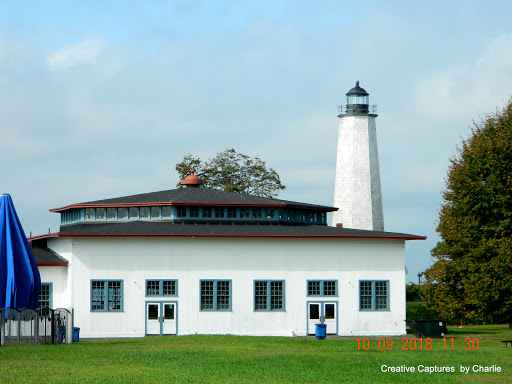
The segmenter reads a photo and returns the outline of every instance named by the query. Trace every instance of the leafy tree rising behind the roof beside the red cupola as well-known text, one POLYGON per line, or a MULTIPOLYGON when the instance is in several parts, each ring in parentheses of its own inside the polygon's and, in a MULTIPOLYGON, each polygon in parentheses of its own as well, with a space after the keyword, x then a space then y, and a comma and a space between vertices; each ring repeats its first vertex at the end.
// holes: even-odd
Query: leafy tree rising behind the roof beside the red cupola
MULTIPOLYGON (((221 189, 264 197, 275 197, 286 187, 276 171, 267 168, 258 156, 251 158, 234 149, 226 149, 206 162, 187 155, 176 164, 180 177, 185 178, 194 169, 206 188, 221 189)), ((181 187, 180 183, 177 187, 181 187)))

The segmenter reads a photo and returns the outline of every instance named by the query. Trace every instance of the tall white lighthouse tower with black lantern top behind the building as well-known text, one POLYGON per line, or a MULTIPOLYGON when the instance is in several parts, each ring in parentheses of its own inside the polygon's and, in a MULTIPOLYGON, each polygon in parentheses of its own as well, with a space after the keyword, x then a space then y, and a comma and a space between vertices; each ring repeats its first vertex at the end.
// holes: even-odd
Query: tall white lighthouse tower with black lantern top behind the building
POLYGON ((340 118, 333 226, 384 231, 375 106, 359 86, 348 91, 340 118))

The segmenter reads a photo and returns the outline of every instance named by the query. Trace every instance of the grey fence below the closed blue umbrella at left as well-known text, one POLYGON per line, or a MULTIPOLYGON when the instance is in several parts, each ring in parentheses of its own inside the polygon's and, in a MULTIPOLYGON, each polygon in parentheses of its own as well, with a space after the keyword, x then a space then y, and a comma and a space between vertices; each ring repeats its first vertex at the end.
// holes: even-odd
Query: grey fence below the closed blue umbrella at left
POLYGON ((2 308, 0 345, 73 342, 73 309, 2 308))

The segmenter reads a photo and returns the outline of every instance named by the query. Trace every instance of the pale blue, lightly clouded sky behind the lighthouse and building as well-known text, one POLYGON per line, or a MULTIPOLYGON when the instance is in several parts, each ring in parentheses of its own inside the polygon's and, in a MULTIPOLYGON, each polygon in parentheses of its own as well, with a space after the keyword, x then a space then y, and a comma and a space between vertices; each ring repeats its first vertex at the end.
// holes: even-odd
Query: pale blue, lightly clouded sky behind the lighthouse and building
POLYGON ((337 106, 378 106, 385 228, 432 265, 449 159, 512 97, 512 2, 0 1, 0 193, 27 235, 72 203, 172 189, 234 148, 333 205, 337 106))

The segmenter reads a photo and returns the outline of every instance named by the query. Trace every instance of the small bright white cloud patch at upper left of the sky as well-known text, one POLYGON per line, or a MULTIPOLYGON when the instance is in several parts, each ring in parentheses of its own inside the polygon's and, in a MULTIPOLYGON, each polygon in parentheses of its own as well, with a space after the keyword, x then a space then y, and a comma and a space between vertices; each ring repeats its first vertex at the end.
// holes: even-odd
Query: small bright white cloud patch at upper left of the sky
POLYGON ((46 58, 51 70, 66 70, 81 63, 94 63, 105 44, 98 40, 88 40, 69 45, 46 58))

